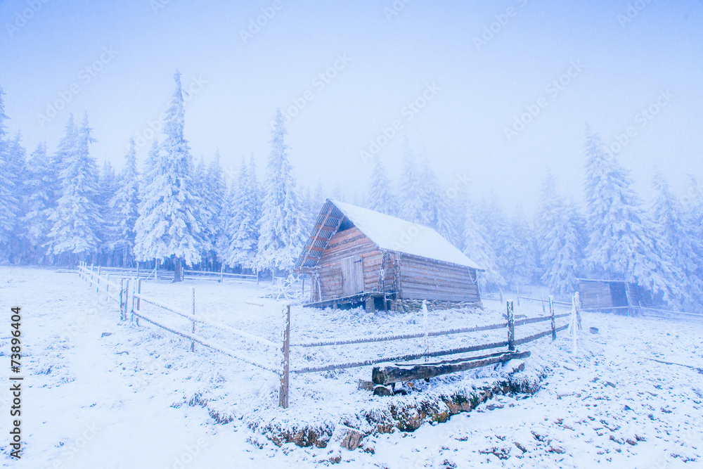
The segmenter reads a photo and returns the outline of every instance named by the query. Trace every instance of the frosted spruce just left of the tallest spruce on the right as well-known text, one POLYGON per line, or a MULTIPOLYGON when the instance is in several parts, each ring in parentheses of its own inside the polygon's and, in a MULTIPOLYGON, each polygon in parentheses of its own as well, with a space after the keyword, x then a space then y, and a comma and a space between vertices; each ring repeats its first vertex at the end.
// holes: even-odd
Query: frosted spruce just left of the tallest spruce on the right
POLYGON ((542 283, 557 295, 576 290, 576 273, 582 262, 583 248, 578 219, 577 207, 567 205, 566 200, 557 195, 555 178, 548 172, 542 181, 535 231, 542 283))

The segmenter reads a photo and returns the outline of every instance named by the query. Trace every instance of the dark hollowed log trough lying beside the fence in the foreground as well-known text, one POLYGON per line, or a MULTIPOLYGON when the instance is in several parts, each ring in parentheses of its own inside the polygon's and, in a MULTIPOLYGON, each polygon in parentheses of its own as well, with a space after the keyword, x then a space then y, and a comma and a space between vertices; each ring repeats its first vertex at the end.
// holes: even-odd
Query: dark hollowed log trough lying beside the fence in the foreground
POLYGON ((471 358, 443 360, 416 365, 386 364, 373 367, 371 380, 375 385, 389 385, 400 381, 428 379, 434 378, 434 376, 503 363, 512 359, 524 359, 529 355, 530 352, 498 352, 471 358))

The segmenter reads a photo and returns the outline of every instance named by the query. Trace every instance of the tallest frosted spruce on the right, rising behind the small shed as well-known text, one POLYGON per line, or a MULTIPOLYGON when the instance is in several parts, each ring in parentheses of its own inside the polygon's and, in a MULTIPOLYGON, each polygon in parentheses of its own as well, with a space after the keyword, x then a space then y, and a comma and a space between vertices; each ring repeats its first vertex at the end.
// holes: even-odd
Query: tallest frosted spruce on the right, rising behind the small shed
POLYGON ((586 204, 591 240, 586 263, 596 276, 637 283, 665 302, 676 302, 671 264, 657 252, 652 222, 631 188, 629 172, 603 150, 597 134, 586 138, 586 204))

